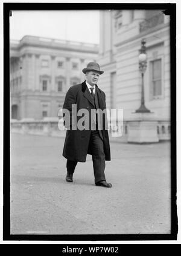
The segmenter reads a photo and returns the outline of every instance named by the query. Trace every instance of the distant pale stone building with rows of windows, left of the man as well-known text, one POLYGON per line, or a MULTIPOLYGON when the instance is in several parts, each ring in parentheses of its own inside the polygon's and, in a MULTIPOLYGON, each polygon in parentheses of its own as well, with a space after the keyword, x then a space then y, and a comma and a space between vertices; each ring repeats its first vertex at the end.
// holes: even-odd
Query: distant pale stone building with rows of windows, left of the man
POLYGON ((10 41, 11 119, 57 117, 65 93, 84 79, 98 45, 24 36, 10 41))

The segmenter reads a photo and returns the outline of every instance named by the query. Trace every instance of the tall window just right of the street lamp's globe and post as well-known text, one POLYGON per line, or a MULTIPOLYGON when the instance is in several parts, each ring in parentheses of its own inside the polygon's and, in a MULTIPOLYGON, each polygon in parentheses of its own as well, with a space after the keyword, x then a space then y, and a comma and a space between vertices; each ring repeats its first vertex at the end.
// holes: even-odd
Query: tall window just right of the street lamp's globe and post
POLYGON ((156 98, 162 95, 162 61, 157 59, 150 64, 151 96, 156 98))

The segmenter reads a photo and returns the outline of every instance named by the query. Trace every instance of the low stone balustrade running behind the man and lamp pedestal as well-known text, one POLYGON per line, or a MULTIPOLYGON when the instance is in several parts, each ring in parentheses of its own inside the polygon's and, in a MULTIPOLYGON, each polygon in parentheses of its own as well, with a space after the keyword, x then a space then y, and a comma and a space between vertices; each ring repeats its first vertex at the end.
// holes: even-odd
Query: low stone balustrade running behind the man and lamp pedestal
MULTIPOLYGON (((123 122, 119 127, 111 125, 109 129, 110 141, 127 142, 129 134, 129 120, 123 122)), ((11 133, 37 134, 42 136, 65 137, 66 130, 63 120, 59 121, 17 121, 11 122, 11 133)), ((170 140, 170 121, 157 121, 157 135, 159 140, 170 140)))

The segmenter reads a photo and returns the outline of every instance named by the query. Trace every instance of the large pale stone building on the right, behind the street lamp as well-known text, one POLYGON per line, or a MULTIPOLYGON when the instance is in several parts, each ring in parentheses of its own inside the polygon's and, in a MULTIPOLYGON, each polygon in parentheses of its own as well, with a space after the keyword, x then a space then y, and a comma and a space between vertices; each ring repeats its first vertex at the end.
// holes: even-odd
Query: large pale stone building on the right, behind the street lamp
MULTIPOLYGON (((139 49, 146 39, 145 106, 157 120, 170 120, 170 19, 161 10, 100 11, 100 54, 104 74, 99 85, 108 108, 122 108, 134 118, 141 105, 139 49)), ((168 125, 168 129, 169 129, 168 125)))

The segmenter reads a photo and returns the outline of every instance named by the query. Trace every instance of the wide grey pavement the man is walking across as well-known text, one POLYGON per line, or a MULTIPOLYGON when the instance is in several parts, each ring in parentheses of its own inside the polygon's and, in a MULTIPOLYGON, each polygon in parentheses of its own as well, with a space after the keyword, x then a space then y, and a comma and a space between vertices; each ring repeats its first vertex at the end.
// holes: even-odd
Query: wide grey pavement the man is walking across
POLYGON ((106 179, 91 156, 67 183, 63 138, 11 134, 11 234, 170 234, 170 142, 110 143, 106 179))

